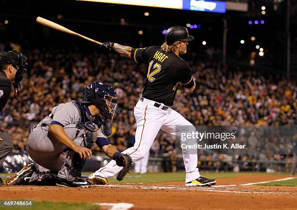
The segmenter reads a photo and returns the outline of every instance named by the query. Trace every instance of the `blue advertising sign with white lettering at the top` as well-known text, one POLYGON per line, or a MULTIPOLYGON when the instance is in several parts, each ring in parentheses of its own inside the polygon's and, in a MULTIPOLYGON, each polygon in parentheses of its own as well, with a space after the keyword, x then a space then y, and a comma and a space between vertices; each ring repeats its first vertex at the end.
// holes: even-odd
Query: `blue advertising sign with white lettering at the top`
POLYGON ((210 13, 226 13, 226 2, 212 0, 182 0, 182 9, 210 13))

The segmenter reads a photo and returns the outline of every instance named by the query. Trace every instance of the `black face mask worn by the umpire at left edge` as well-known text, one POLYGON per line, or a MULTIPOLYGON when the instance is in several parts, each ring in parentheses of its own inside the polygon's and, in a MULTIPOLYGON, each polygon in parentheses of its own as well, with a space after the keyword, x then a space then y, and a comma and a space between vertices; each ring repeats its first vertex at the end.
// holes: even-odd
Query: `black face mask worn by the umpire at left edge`
POLYGON ((11 64, 16 68, 15 82, 13 83, 15 89, 15 99, 17 99, 17 89, 20 88, 20 82, 27 73, 27 57, 23 53, 16 50, 0 53, 1 64, 11 64))

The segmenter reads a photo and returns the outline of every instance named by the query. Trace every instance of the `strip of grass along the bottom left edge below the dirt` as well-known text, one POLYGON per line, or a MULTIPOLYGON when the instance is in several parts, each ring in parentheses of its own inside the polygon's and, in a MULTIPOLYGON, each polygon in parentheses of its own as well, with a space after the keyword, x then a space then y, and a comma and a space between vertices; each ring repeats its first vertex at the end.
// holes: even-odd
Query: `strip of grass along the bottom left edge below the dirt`
POLYGON ((90 203, 66 203, 32 201, 32 206, 4 206, 0 200, 0 210, 99 210, 99 206, 90 203))

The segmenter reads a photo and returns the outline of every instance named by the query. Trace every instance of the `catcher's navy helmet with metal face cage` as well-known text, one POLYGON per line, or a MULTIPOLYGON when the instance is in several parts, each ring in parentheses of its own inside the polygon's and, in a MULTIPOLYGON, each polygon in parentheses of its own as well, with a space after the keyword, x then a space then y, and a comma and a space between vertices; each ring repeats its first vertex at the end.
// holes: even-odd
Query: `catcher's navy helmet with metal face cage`
POLYGON ((87 85, 83 91, 83 102, 93 103, 97 105, 100 110, 100 114, 104 117, 113 120, 116 108, 116 92, 110 85, 105 85, 100 82, 93 82, 87 85))

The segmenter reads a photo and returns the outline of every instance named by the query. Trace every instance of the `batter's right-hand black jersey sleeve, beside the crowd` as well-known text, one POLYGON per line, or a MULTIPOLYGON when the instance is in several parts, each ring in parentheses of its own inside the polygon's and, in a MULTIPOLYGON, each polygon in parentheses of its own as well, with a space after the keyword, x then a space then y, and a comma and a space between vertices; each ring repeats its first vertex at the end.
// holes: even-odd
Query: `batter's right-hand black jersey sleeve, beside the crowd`
POLYGON ((176 78, 184 88, 191 89, 195 86, 195 81, 188 63, 183 63, 177 72, 176 78))

